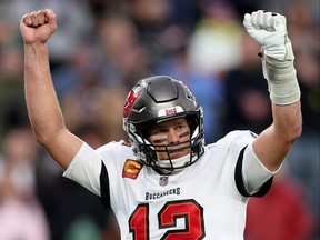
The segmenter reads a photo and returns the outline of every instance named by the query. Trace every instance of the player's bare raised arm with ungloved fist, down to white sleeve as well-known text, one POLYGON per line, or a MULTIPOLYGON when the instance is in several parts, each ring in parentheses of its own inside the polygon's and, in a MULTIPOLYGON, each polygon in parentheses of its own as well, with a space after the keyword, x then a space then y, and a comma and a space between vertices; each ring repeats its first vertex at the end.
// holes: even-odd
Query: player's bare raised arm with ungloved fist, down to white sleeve
POLYGON ((66 170, 82 141, 66 128, 51 80, 47 41, 56 29, 56 14, 50 9, 24 14, 20 22, 29 119, 37 140, 66 170))

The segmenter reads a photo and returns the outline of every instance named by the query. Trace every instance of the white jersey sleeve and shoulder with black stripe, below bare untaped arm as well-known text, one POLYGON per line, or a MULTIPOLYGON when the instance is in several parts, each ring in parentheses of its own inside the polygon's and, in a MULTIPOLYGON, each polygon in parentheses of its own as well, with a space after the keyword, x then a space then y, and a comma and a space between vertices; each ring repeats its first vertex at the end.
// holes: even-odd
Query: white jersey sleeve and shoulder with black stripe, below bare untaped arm
POLYGON ((134 156, 123 141, 112 141, 97 150, 83 142, 63 177, 97 194, 106 208, 111 208, 121 198, 119 180, 127 159, 134 156))

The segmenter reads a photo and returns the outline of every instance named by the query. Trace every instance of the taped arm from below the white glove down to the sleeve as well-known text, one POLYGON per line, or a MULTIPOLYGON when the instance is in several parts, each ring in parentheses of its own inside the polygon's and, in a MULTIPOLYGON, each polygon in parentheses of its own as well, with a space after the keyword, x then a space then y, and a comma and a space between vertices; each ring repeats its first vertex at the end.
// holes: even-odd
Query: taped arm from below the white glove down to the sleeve
POLYGON ((263 74, 268 81, 272 101, 273 122, 259 136, 253 149, 261 162, 276 171, 293 142, 302 131, 300 109, 300 88, 293 66, 293 52, 290 40, 286 37, 283 59, 262 56, 263 74))

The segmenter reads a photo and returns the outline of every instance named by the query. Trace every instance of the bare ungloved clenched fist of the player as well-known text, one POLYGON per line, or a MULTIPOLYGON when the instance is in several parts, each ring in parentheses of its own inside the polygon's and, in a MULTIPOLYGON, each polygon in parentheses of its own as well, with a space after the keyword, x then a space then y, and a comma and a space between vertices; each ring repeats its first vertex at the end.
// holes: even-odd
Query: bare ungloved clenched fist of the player
POLYGON ((46 43, 56 29, 56 13, 51 9, 32 11, 24 14, 20 21, 20 31, 26 44, 46 43))

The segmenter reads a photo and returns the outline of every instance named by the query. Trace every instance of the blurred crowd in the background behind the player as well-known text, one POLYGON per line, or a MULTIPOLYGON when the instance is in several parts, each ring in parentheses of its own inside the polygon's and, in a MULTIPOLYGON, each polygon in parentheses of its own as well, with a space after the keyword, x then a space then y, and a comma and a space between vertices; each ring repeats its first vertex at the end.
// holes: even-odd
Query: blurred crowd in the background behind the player
POLYGON ((282 13, 296 54, 303 133, 271 191, 252 199, 246 240, 319 237, 318 0, 0 0, 0 240, 117 239, 113 213, 34 142, 23 94, 21 17, 58 16, 49 51, 66 124, 93 148, 126 139, 122 108, 137 80, 170 74, 204 109, 207 143, 230 130, 260 133, 271 121, 260 47, 246 12, 282 13))

